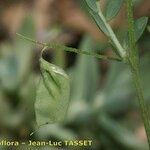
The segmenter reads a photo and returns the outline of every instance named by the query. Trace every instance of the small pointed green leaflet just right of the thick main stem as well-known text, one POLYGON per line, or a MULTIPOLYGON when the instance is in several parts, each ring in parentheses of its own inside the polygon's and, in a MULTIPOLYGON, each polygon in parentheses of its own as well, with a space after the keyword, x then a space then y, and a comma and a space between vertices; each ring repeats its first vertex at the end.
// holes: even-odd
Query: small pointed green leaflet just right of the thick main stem
POLYGON ((136 41, 138 41, 141 35, 143 34, 147 22, 148 22, 148 17, 141 17, 135 21, 136 41))

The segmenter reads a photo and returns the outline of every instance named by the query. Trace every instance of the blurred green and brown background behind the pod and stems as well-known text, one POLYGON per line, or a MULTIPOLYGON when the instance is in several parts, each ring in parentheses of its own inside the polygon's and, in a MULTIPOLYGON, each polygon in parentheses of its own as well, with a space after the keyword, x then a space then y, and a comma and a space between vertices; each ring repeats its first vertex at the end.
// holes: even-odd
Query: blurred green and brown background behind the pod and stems
MULTIPOLYGON (((136 8, 142 12, 139 3, 136 8)), ((111 22, 120 38, 126 32, 123 14, 122 8, 120 15, 111 22)), ((138 18, 141 14, 135 16, 138 18)), ((69 110, 65 122, 37 127, 34 102, 40 77, 41 47, 20 39, 16 32, 43 42, 59 42, 112 55, 108 40, 87 15, 82 0, 2 0, 0 17, 0 141, 93 140, 89 148, 29 148, 21 145, 17 148, 0 146, 0 150, 148 149, 128 68, 119 62, 100 61, 55 49, 47 50, 44 58, 64 68, 70 76, 69 110)), ((149 107, 149 23, 138 41, 138 48, 144 96, 149 107)))

